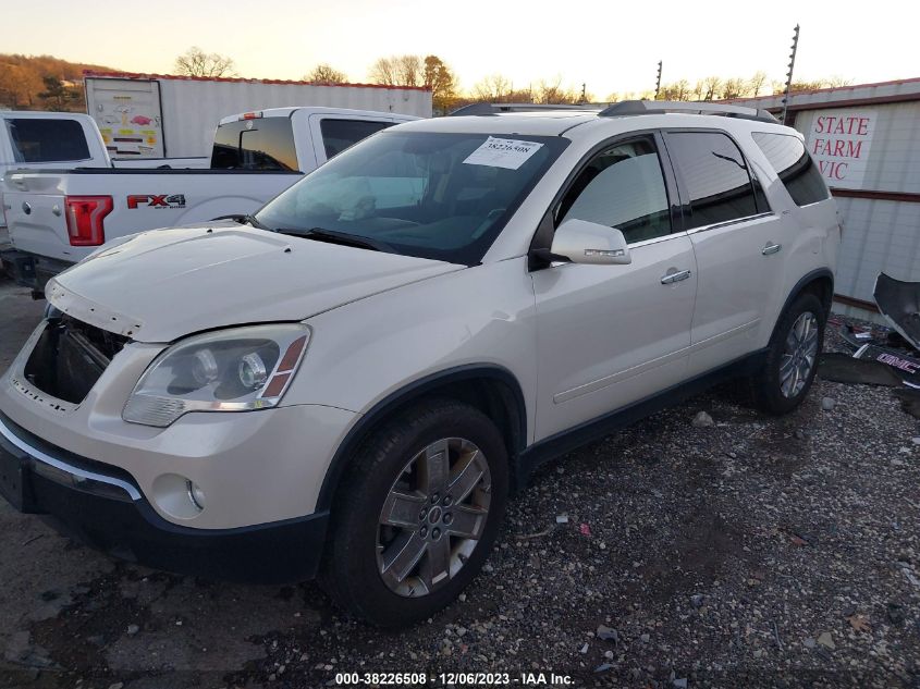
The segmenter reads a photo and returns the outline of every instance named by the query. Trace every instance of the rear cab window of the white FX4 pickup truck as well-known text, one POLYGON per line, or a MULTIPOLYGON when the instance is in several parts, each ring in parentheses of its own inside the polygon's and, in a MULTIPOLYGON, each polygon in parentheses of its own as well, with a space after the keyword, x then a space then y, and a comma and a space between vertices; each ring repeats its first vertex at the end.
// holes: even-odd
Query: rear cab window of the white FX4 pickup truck
POLYGON ((218 126, 211 151, 217 170, 297 170, 291 118, 255 118, 218 126))

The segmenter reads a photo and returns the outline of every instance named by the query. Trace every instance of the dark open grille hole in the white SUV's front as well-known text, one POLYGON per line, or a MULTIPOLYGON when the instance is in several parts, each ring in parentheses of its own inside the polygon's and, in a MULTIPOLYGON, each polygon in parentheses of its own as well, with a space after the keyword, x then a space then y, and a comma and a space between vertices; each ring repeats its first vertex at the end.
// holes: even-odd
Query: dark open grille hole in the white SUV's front
POLYGON ((79 404, 128 339, 68 315, 48 319, 25 365, 25 377, 41 392, 79 404))

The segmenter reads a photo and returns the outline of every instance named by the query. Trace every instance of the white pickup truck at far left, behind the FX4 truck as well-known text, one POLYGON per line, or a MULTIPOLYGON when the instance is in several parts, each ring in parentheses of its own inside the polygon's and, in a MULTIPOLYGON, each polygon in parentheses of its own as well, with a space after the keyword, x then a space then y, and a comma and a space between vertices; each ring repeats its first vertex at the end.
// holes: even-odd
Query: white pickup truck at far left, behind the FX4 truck
MULTIPOLYGON (((3 177, 14 170, 54 168, 207 168, 207 158, 112 160, 99 127, 79 112, 0 111, 0 208, 3 177)), ((0 227, 4 226, 0 212, 0 227)))

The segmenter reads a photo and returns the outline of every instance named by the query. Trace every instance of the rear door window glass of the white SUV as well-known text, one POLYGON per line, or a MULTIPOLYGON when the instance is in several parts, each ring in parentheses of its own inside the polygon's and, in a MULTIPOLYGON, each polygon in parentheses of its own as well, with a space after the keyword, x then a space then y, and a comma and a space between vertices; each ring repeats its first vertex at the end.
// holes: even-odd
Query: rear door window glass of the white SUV
POLYGON ((758 213, 747 161, 727 135, 670 132, 667 151, 690 199, 687 230, 758 213))

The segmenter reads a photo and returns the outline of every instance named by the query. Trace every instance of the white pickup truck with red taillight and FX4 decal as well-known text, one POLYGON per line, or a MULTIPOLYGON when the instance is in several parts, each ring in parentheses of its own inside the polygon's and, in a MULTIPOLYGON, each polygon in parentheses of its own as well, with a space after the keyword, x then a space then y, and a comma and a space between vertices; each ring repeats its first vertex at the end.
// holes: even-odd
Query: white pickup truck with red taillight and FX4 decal
POLYGON ((336 108, 275 108, 221 120, 210 168, 72 169, 9 173, 12 248, 0 251, 20 284, 54 274, 115 237, 246 216, 352 144, 412 115, 336 108))

